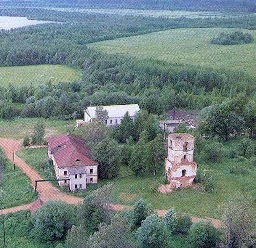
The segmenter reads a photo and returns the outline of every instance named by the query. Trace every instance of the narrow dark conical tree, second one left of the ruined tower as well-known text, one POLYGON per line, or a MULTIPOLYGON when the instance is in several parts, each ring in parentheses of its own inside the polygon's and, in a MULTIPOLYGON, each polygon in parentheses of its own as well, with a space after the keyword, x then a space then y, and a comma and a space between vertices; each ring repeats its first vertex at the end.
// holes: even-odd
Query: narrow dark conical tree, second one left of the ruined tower
POLYGON ((146 131, 143 131, 140 135, 140 139, 138 143, 135 145, 131 160, 129 165, 131 169, 134 171, 136 176, 139 176, 146 172, 146 162, 147 162, 147 142, 148 134, 146 131))

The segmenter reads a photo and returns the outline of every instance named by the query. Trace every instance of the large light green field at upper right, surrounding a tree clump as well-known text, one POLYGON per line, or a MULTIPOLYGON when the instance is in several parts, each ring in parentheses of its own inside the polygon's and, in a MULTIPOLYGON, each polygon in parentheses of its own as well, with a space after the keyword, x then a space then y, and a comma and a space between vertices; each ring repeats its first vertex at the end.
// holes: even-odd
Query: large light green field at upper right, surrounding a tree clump
POLYGON ((245 70, 255 75, 256 31, 240 29, 254 36, 254 43, 233 46, 211 44, 210 39, 233 28, 173 29, 134 37, 100 41, 90 47, 108 53, 120 53, 140 58, 154 58, 170 62, 245 70))

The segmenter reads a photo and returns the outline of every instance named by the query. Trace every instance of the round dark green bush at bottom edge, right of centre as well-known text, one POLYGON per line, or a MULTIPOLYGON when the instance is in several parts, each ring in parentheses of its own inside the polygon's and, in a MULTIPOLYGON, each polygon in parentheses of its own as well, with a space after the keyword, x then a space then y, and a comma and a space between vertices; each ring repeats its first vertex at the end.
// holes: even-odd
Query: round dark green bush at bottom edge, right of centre
POLYGON ((188 234, 189 245, 193 248, 216 247, 219 240, 217 229, 206 221, 193 223, 188 234))

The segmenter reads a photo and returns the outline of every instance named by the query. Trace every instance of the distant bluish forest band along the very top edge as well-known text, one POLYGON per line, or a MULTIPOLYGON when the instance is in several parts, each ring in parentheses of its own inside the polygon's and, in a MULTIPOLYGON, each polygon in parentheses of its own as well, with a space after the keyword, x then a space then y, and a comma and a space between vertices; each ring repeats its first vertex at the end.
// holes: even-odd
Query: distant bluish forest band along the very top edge
POLYGON ((158 9, 158 10, 215 10, 215 11, 250 11, 255 9, 253 0, 50 0, 31 1, 12 0, 3 4, 17 6, 51 6, 51 7, 74 7, 74 8, 126 8, 126 9, 158 9))

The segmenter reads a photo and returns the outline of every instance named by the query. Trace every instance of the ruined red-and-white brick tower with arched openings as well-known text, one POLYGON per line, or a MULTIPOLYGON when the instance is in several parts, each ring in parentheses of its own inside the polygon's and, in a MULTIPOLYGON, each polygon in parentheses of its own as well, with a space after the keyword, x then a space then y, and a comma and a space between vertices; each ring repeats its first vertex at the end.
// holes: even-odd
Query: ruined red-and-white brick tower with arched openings
POLYGON ((171 188, 189 187, 197 174, 194 161, 195 138, 188 133, 168 136, 168 156, 165 159, 167 181, 171 188))

